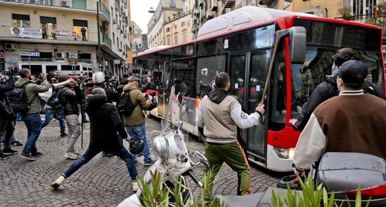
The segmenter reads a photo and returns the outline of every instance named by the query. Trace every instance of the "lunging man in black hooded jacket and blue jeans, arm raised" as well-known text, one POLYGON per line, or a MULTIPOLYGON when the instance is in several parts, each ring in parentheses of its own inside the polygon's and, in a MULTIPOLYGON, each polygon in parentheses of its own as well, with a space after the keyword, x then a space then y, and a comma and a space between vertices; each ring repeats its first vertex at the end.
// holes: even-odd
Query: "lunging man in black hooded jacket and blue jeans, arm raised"
MULTIPOLYGON (((76 84, 76 82, 72 84, 76 84)), ((90 161, 95 155, 105 150, 113 152, 126 162, 130 177, 133 180, 133 191, 136 191, 138 188, 136 181, 138 173, 134 165, 134 159, 118 140, 117 131, 120 137, 126 140, 129 139, 119 118, 117 108, 113 104, 108 103, 106 92, 101 88, 94 89, 94 96, 89 97, 87 102, 80 90, 76 92, 81 97, 80 103, 83 110, 90 118, 90 144, 82 157, 76 160, 51 186, 54 189, 58 189, 66 178, 90 161)))

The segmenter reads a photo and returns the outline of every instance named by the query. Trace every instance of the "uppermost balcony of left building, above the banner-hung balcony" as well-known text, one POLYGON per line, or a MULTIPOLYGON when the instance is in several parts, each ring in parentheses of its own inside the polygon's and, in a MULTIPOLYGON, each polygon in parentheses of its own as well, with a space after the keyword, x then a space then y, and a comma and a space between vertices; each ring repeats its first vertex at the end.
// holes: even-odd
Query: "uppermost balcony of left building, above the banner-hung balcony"
MULTIPOLYGON (((97 2, 98 0, 86 0, 85 2, 77 0, 6 0, 2 2, 2 5, 96 14, 97 2)), ((110 12, 103 3, 102 6, 103 7, 100 7, 102 15, 99 15, 99 18, 101 18, 102 21, 110 22, 110 12)))

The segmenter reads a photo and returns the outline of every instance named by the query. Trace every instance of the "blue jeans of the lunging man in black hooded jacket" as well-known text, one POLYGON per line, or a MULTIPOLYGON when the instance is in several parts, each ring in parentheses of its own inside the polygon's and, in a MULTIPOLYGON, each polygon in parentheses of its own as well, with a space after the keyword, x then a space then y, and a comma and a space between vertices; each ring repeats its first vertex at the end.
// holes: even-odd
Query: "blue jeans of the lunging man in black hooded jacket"
MULTIPOLYGON (((87 148, 86 152, 82 155, 82 157, 77 159, 74 163, 72 163, 71 166, 63 173, 63 175, 66 178, 71 176, 81 166, 86 164, 88 161, 90 161, 93 157, 95 157, 95 155, 97 155, 101 151, 102 149, 87 148)), ((134 164, 133 156, 124 147, 122 147, 119 151, 116 151, 113 153, 126 162, 126 166, 127 166, 127 169, 129 170, 130 178, 132 180, 136 180, 138 176, 138 172, 134 164)))

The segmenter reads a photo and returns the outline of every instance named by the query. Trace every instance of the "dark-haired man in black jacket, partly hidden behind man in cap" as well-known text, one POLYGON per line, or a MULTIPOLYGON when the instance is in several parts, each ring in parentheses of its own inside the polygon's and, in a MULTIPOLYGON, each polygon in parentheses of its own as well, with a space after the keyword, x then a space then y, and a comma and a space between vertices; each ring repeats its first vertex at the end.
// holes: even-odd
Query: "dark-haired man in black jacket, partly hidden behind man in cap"
MULTIPOLYGON (((297 131, 302 131, 306 126, 312 112, 324 101, 339 95, 339 90, 336 84, 337 73, 339 67, 346 61, 359 60, 359 54, 351 48, 339 49, 333 56, 334 65, 332 66, 332 77, 328 78, 321 84, 319 84, 312 92, 310 99, 302 107, 302 114, 299 120, 290 119, 290 123, 297 131)), ((374 83, 365 81, 363 84, 364 93, 368 93, 377 96, 383 100, 386 100, 386 96, 382 90, 374 83)))

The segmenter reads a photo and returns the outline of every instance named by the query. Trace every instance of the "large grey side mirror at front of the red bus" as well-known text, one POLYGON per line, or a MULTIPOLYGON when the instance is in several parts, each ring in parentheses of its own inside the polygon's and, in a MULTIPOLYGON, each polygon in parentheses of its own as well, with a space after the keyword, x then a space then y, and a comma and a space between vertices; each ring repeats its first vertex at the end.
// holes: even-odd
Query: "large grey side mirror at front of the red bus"
POLYGON ((289 30, 291 38, 290 57, 291 63, 303 64, 306 58, 307 35, 304 27, 292 27, 289 30))

